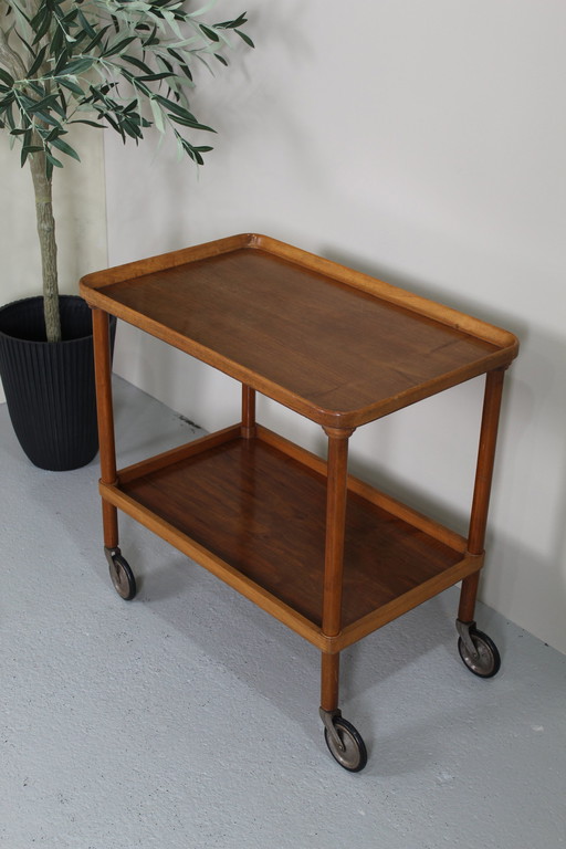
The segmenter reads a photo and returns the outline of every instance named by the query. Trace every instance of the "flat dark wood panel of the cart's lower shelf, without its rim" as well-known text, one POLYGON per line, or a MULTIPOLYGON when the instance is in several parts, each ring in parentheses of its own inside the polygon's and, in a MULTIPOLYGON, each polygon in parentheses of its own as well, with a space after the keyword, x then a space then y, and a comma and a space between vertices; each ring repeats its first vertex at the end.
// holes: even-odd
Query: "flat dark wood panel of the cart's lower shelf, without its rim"
MULTIPOLYGON (((321 626, 323 475, 259 439, 233 439, 153 473, 125 478, 119 489, 128 497, 321 626)), ((458 569, 463 557, 349 492, 343 626, 458 569)))

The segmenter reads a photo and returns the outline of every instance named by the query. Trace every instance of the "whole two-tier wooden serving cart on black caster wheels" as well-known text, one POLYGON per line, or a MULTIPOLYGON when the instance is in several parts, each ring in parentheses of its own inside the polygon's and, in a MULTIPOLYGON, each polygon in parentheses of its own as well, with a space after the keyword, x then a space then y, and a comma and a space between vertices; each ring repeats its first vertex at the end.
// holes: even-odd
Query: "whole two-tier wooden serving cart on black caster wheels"
POLYGON ((326 743, 352 772, 367 755, 338 708, 342 649, 461 580, 460 656, 496 673, 474 606, 511 333, 256 234, 90 274, 81 294, 93 307, 104 547, 123 598, 136 581, 117 509, 321 650, 326 743), (109 315, 240 381, 241 420, 117 471, 109 315), (356 428, 482 374, 468 539, 348 474, 356 428), (326 460, 256 423, 255 391, 317 422, 326 460))

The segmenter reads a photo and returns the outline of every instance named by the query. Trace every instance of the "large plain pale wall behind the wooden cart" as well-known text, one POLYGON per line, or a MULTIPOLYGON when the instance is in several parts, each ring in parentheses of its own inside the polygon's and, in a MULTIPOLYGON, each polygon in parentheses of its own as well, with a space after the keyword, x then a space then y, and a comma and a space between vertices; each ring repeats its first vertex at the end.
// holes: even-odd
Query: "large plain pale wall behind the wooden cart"
MULTIPOLYGON (((566 651, 566 6, 245 7, 256 51, 195 97, 220 132, 198 176, 107 138, 111 264, 265 232, 517 333, 482 594, 566 651)), ((228 378, 126 327, 116 366, 207 428, 238 418, 228 378)), ((464 531, 481 394, 472 381, 358 431, 354 468, 464 531)), ((261 418, 322 447, 269 402, 261 418)))

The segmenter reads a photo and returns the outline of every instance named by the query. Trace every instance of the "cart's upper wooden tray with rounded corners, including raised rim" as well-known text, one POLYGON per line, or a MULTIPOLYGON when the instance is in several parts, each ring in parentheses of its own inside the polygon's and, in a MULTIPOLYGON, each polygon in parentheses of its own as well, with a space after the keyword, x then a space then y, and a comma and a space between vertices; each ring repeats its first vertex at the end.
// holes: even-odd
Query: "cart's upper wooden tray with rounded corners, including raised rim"
POLYGON ((256 234, 90 274, 81 294, 325 427, 355 428, 518 349, 506 331, 256 234))

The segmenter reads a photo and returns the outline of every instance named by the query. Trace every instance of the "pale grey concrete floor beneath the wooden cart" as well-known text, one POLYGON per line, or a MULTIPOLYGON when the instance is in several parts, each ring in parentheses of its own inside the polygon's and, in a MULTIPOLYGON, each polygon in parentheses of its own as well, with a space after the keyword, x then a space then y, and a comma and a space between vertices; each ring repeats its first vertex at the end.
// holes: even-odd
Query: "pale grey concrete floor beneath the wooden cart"
MULTIPOLYGON (((116 380, 120 464, 196 429, 116 380)), ((34 469, 0 407, 2 849, 566 846, 566 657, 486 607, 462 665, 448 590, 344 652, 369 762, 331 758, 308 643, 124 517, 111 586, 96 462, 34 469)))

